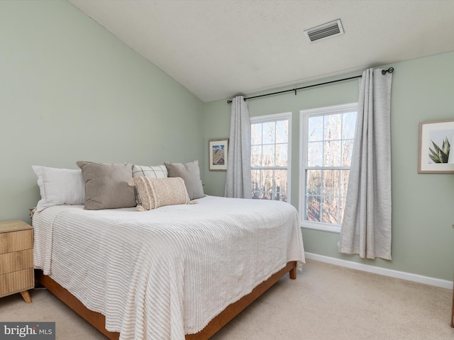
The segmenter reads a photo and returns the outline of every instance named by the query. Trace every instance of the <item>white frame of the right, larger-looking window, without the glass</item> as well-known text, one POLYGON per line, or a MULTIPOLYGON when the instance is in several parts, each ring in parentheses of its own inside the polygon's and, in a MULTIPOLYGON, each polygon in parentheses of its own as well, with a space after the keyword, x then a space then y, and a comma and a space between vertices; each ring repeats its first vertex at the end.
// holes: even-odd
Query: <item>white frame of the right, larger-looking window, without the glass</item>
MULTIPOLYGON (((336 113, 348 113, 356 111, 358 113, 358 103, 348 103, 335 106, 325 106, 323 108, 311 108, 308 110, 299 111, 299 135, 301 137, 301 144, 299 150, 299 218, 300 226, 307 229, 317 229, 325 232, 341 232, 341 225, 334 225, 324 222, 311 222, 304 220, 306 211, 306 169, 314 169, 313 166, 306 166, 308 157, 308 124, 309 118, 320 115, 332 115, 336 113)), ((335 169, 348 169, 350 166, 336 166, 335 169)), ((333 169, 329 166, 320 166, 315 169, 333 169)))

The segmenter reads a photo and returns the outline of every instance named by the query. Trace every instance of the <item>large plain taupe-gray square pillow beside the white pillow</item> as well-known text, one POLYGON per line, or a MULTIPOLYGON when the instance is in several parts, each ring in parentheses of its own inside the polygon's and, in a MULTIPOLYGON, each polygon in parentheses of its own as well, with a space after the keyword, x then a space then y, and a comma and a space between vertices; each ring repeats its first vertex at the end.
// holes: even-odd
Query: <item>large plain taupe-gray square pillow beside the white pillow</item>
POLYGON ((131 164, 76 162, 85 182, 85 209, 116 209, 135 207, 131 164))

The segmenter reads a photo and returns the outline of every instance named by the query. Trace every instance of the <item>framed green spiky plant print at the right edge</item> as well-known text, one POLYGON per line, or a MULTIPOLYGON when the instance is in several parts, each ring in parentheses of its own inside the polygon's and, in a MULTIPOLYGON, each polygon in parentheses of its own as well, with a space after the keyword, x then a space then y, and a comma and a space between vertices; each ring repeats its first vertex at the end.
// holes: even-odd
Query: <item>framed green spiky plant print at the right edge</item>
POLYGON ((454 173, 454 119, 419 123, 419 174, 454 173))

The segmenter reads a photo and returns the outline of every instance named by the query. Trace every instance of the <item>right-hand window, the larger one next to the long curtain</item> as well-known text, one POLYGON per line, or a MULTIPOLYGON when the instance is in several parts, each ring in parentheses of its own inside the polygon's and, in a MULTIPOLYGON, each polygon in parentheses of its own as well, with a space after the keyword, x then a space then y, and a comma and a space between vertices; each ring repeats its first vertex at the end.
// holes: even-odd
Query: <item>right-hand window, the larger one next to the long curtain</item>
POLYGON ((340 232, 358 103, 300 111, 303 227, 340 232))

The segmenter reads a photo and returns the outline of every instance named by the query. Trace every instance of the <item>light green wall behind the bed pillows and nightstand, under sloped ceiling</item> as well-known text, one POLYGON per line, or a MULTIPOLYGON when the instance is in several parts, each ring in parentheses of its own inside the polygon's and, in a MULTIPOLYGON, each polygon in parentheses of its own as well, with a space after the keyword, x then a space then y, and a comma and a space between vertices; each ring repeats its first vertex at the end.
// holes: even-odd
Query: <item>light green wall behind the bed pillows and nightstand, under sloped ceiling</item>
POLYGON ((29 221, 31 165, 205 162, 204 103, 67 1, 0 1, 0 220, 29 221))

